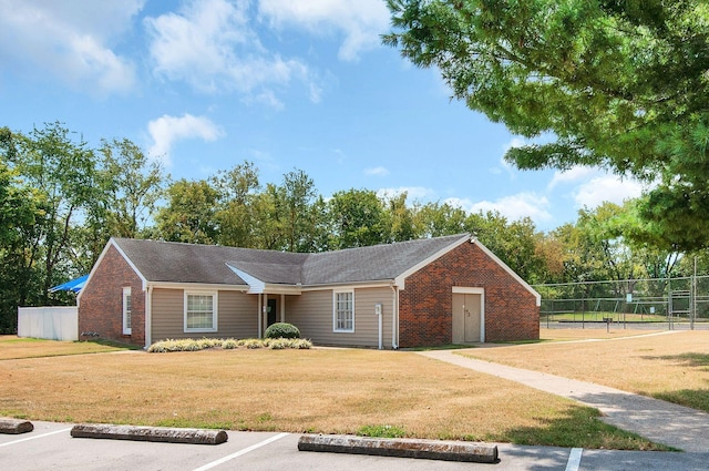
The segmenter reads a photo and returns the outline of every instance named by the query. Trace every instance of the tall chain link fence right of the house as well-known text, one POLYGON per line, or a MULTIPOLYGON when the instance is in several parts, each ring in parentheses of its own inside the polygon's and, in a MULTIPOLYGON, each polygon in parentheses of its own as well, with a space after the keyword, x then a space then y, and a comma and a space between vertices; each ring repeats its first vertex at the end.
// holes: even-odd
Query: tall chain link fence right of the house
POLYGON ((709 276, 535 285, 541 322, 666 322, 709 328, 709 276), (706 322, 706 324, 705 324, 706 322))

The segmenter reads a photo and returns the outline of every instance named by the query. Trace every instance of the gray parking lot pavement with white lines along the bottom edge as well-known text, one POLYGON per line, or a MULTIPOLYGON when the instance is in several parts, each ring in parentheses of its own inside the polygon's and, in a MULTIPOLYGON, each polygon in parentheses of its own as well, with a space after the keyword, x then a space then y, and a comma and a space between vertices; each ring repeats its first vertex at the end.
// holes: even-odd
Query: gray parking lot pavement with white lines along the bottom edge
POLYGON ((274 469, 322 471, 532 471, 532 470, 706 470, 708 454, 576 450, 499 444, 497 464, 458 463, 361 454, 298 451, 299 434, 228 432, 217 446, 155 443, 72 438, 71 423, 34 421, 34 430, 0 434, 0 470, 174 470, 206 471, 274 469))

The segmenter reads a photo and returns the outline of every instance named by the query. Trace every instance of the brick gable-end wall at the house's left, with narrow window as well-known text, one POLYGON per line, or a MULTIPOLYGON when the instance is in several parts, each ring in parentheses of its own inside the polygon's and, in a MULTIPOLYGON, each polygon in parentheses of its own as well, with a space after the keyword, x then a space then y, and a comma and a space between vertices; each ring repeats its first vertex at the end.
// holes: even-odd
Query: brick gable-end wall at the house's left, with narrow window
POLYGON ((145 345, 145 291, 141 278, 110 246, 90 283, 83 288, 79 304, 79 335, 81 340, 96 337, 82 332, 97 332, 100 339, 138 346, 145 345), (123 288, 131 287, 131 335, 123 335, 123 288))

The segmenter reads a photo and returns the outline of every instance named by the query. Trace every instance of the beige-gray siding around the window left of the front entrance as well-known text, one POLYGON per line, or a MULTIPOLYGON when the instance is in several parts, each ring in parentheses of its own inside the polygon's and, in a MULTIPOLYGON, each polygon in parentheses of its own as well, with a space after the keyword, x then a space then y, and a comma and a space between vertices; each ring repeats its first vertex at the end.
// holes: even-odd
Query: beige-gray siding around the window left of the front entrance
POLYGON ((258 336, 258 297, 218 291, 217 331, 185 332, 184 290, 153 290, 152 340, 167 338, 255 338, 258 336))

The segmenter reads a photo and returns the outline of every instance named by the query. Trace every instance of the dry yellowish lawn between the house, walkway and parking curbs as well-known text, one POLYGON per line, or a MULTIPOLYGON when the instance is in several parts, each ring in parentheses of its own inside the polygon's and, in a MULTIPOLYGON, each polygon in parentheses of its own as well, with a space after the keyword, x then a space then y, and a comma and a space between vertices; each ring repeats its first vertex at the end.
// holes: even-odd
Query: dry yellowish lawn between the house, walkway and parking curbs
POLYGON ((603 423, 595 409, 403 351, 14 359, 0 361, 0 416, 35 420, 664 449, 603 423))

